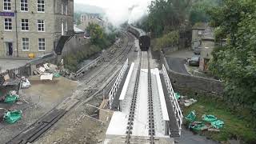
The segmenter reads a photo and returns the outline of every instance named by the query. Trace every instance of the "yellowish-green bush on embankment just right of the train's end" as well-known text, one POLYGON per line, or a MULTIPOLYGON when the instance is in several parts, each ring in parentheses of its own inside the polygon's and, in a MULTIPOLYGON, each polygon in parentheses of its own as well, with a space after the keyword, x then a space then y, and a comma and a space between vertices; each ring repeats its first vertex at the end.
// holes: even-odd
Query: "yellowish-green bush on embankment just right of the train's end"
POLYGON ((162 50, 169 46, 177 46, 179 40, 178 30, 171 31, 168 34, 164 34, 161 38, 156 38, 154 42, 154 50, 162 50))

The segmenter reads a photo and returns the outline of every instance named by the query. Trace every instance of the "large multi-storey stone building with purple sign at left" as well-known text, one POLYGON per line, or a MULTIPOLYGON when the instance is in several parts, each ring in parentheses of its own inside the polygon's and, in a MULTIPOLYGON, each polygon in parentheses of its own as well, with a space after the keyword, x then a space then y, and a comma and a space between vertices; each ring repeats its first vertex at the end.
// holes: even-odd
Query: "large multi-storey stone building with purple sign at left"
POLYGON ((73 34, 74 0, 0 2, 0 58, 60 54, 73 34))

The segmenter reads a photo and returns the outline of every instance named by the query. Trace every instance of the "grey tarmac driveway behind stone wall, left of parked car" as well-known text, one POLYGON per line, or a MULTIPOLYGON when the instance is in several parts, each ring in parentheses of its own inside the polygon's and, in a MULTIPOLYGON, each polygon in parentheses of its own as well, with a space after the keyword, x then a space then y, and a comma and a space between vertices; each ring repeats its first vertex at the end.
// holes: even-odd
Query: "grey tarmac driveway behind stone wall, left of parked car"
POLYGON ((170 70, 173 70, 173 71, 181 73, 181 74, 190 75, 187 72, 186 67, 184 66, 184 64, 186 63, 186 58, 166 57, 166 60, 168 62, 170 70))

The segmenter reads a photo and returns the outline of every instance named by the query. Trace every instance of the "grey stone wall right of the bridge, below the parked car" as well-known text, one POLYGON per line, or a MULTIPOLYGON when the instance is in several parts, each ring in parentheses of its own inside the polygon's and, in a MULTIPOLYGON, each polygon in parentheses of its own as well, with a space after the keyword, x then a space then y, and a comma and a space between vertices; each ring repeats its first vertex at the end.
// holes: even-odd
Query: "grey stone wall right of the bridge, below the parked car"
POLYGON ((165 55, 162 54, 162 52, 160 58, 161 63, 166 67, 170 82, 173 84, 174 89, 182 92, 182 94, 191 93, 192 91, 194 94, 214 94, 220 96, 223 94, 222 82, 210 78, 179 74, 170 70, 165 55))

